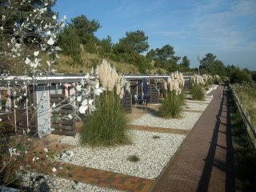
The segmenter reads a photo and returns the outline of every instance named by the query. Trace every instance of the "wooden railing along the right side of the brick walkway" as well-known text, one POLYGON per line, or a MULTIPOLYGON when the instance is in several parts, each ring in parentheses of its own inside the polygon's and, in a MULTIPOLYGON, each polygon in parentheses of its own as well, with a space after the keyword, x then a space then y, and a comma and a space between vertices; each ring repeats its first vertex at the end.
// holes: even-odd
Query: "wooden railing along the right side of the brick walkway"
POLYGON ((240 102, 240 99, 238 98, 237 94, 232 89, 232 86, 230 86, 230 90, 232 91, 232 94, 234 96, 234 101, 236 102, 236 105, 238 106, 238 111, 242 117, 242 121, 244 122, 244 124, 246 126, 246 131, 250 138, 250 141, 253 142, 254 148, 256 150, 256 130, 255 130, 254 126, 251 125, 250 116, 247 116, 246 113, 244 112, 244 110, 242 108, 242 103, 240 102))

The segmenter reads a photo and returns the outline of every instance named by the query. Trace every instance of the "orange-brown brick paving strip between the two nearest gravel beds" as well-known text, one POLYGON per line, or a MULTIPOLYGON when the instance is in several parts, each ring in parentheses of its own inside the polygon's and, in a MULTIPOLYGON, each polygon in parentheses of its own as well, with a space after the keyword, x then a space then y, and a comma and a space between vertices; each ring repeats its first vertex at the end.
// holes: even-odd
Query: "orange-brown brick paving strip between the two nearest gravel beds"
MULTIPOLYGON (((38 167, 34 167, 38 170, 38 167)), ((153 186, 154 180, 119 174, 106 170, 98 170, 85 166, 76 166, 63 162, 46 162, 44 169, 39 170, 44 174, 55 174, 77 182, 90 183, 91 185, 107 187, 116 190, 147 192, 153 186), (52 167, 56 167, 53 173, 52 167)))

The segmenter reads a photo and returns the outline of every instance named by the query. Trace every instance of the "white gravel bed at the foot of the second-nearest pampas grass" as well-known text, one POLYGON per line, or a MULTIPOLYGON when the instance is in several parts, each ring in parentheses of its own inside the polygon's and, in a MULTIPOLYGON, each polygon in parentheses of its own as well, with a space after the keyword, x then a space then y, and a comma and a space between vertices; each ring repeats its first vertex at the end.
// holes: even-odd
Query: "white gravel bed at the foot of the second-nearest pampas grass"
POLYGON ((180 130, 191 130, 198 121, 202 113, 183 112, 182 118, 160 118, 156 113, 145 114, 141 118, 137 118, 132 125, 136 126, 156 126, 163 128, 172 128, 180 130))

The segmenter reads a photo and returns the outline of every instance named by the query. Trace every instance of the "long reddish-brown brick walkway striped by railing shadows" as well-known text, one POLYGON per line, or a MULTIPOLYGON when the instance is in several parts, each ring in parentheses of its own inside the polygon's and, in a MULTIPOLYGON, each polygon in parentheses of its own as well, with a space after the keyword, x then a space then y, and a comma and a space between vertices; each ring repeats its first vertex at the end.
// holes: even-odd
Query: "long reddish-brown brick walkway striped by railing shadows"
POLYGON ((178 154, 152 191, 234 191, 234 162, 227 98, 214 90, 178 154))

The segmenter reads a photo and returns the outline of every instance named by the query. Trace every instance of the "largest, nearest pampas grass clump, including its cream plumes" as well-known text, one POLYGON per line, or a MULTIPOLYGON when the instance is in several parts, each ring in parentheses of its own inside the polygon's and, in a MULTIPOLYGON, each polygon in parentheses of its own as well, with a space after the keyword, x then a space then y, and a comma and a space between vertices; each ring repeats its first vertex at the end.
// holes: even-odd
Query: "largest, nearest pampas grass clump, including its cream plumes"
POLYGON ((129 122, 121 106, 125 80, 106 60, 96 71, 106 91, 96 98, 97 110, 84 122, 81 143, 93 147, 130 144, 129 122))

